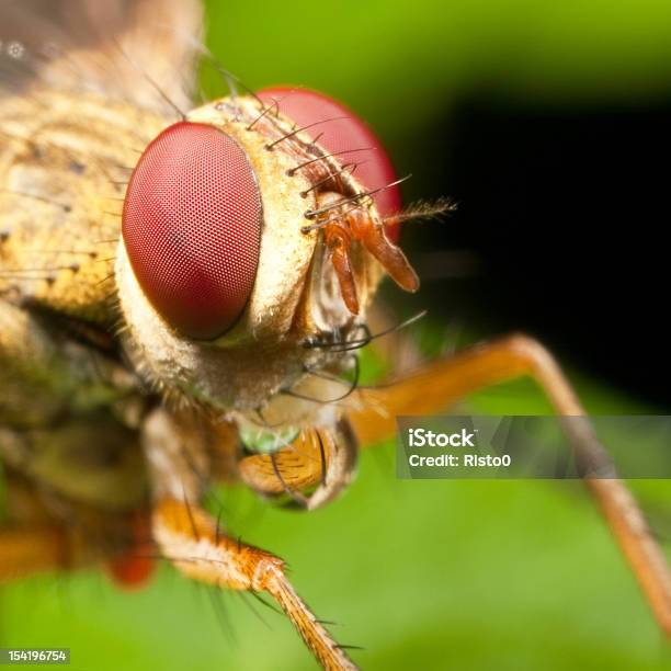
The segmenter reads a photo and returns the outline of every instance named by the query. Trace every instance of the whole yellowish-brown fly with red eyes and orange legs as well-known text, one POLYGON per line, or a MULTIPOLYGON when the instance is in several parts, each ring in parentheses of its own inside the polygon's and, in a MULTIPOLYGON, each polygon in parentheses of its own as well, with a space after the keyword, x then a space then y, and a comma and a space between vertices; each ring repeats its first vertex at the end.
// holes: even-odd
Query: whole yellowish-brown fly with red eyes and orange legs
MULTIPOLYGON (((401 209, 379 140, 327 95, 251 92, 216 62, 231 94, 192 106, 196 57, 209 59, 196 2, 78 4, 2 9, 0 581, 101 565, 134 583, 161 556, 270 594, 319 663, 353 669, 284 562, 205 511, 212 484, 314 510, 398 414, 520 375, 559 414, 582 407, 522 336, 357 388, 378 283, 419 288, 398 227, 427 214, 401 209)), ((589 477, 609 462, 587 419, 566 432, 671 630, 671 581, 636 502, 589 477)))

